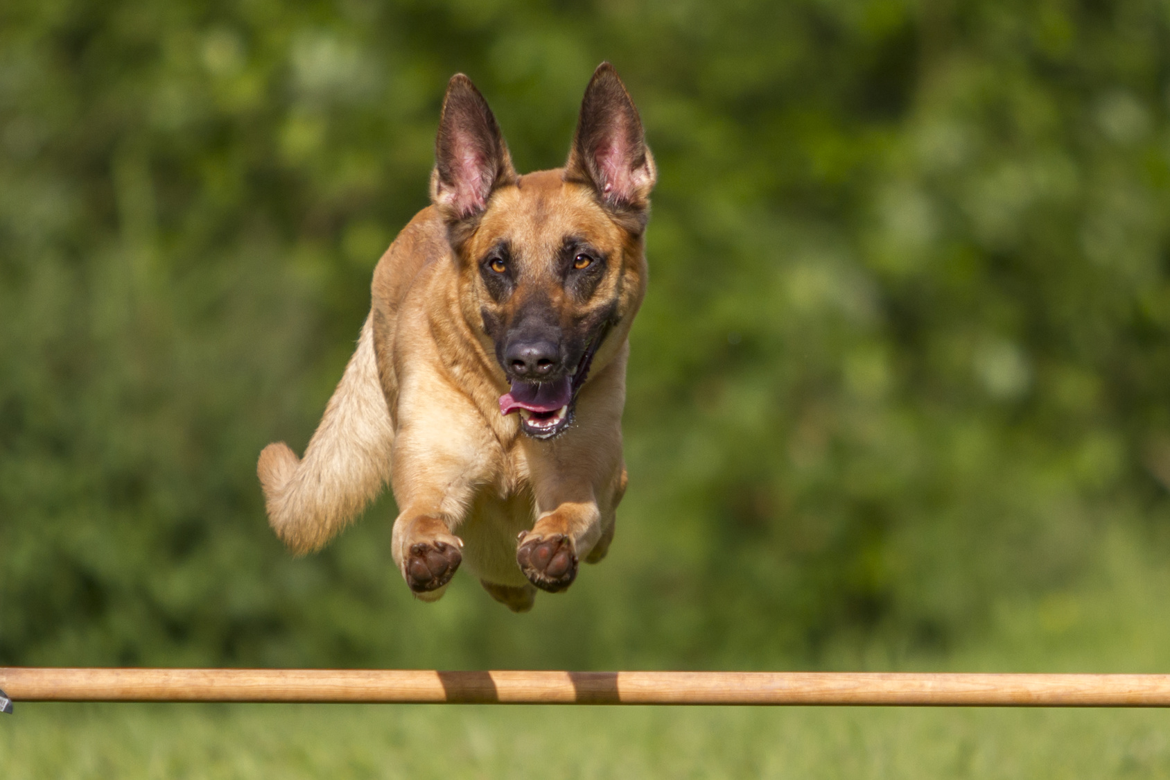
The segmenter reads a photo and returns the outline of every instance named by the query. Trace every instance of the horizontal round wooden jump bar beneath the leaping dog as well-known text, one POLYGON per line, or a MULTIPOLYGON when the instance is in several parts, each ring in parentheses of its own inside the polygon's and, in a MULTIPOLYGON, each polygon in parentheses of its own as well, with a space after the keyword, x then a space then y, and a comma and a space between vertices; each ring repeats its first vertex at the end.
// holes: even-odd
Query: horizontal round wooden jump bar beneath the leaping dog
POLYGON ((1170 675, 0 666, 13 702, 1170 706, 1170 675))

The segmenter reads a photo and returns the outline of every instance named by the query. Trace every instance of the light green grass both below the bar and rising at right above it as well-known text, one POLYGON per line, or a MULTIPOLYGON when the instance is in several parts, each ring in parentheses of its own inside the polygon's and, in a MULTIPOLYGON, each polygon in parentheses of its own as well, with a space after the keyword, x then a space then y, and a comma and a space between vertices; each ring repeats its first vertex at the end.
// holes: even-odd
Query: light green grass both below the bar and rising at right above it
MULTIPOLYGON (((1081 584, 996 611, 935 663, 835 669, 1157 672, 1170 567, 1108 534, 1081 584)), ((1170 711, 16 704, 2 780, 1170 778, 1170 711)))

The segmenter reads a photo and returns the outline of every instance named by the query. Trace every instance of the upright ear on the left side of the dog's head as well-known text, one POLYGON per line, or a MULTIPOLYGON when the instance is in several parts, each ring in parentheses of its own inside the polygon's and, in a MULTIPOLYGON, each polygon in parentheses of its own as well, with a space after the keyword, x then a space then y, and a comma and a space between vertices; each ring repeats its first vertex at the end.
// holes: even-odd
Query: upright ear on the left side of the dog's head
POLYGON ((470 78, 455 74, 442 101, 431 173, 431 201, 452 238, 474 228, 493 190, 515 182, 508 144, 488 102, 470 78))

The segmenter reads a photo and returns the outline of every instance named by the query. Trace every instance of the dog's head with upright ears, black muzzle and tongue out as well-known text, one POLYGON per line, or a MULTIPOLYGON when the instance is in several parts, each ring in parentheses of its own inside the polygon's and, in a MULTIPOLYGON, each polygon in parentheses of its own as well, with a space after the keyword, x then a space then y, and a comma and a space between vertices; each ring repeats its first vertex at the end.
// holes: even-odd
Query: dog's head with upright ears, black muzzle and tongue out
POLYGON ((464 319, 510 384, 501 412, 519 412, 528 436, 552 438, 571 424, 594 355, 628 328, 645 292, 656 172, 638 109, 603 63, 565 167, 518 176, 483 96, 456 75, 435 160, 431 198, 460 266, 464 319))

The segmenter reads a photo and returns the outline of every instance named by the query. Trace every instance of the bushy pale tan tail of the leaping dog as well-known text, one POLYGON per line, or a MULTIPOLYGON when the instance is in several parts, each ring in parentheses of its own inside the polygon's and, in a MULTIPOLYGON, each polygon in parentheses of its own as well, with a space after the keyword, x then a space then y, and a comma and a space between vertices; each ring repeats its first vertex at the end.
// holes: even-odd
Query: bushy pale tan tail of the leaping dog
POLYGON ((371 316, 304 459, 283 442, 260 453, 256 473, 276 535, 295 553, 324 547, 381 490, 393 440, 371 316))

